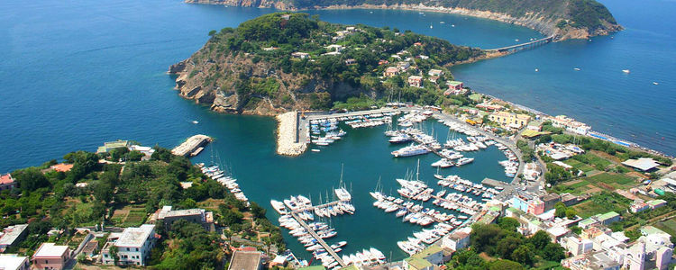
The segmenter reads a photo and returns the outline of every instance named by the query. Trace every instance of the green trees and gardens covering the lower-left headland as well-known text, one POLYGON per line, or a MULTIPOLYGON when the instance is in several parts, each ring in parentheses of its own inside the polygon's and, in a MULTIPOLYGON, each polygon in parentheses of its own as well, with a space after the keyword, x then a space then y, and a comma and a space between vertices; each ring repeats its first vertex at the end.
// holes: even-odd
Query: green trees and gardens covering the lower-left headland
MULTIPOLYGON (((230 236, 255 241, 264 235, 266 246, 285 248, 281 231, 265 218, 258 204, 245 206, 187 157, 174 156, 166 148, 155 150, 151 160, 144 161, 133 161, 141 158, 133 157, 135 151, 122 149, 99 155, 78 151, 64 156, 73 164, 66 173, 49 169, 56 161, 14 171, 19 186, 0 193, 0 211, 5 216, 0 226, 28 223, 29 234, 11 251, 30 255, 48 240, 77 246, 83 236, 74 234, 73 228, 98 228, 102 221, 106 226, 139 226, 161 206, 187 209, 206 202, 212 203, 205 208, 214 211, 215 220, 230 236), (126 162, 99 162, 105 158, 126 162), (192 186, 183 189, 180 182, 192 186), (48 239, 46 233, 52 228, 63 229, 63 235, 48 239)), ((198 224, 179 225, 158 229, 164 237, 153 264, 159 269, 222 268, 219 237, 198 224)))

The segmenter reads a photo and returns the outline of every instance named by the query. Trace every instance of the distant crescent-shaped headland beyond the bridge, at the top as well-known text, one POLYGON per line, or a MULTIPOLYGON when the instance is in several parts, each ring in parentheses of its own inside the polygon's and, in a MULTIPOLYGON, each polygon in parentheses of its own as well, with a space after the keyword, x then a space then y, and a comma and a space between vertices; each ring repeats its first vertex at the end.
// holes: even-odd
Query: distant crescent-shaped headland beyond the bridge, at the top
POLYGON ((595 0, 186 0, 196 4, 274 7, 281 10, 383 8, 434 11, 515 23, 555 35, 557 40, 587 39, 622 27, 595 0))

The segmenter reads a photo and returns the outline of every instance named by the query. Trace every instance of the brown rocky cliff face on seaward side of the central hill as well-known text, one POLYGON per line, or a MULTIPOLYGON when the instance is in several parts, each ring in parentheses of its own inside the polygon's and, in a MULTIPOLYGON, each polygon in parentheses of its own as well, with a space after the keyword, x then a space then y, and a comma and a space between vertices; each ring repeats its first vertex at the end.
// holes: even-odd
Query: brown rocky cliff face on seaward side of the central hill
POLYGON ((169 67, 169 73, 177 76, 176 89, 181 96, 207 105, 215 112, 277 115, 310 108, 317 99, 340 99, 361 93, 375 96, 351 85, 288 74, 269 62, 254 63, 245 53, 223 55, 205 48, 169 67), (242 77, 251 84, 271 80, 279 84, 279 88, 274 94, 244 94, 237 90, 242 77))

